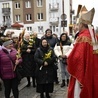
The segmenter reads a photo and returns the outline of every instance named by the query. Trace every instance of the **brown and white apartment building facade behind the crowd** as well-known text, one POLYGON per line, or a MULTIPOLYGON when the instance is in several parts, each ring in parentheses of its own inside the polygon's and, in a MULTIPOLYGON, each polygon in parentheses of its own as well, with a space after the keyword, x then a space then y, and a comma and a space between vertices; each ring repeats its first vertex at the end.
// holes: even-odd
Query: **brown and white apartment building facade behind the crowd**
POLYGON ((71 33, 72 0, 0 0, 0 7, 0 25, 18 22, 39 35, 47 28, 57 35, 71 33))

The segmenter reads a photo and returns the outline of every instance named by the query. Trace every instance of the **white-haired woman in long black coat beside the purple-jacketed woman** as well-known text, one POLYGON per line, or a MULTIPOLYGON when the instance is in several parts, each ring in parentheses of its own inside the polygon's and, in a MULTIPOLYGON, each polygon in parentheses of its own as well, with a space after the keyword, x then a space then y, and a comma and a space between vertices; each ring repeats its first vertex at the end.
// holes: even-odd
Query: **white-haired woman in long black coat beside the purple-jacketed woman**
POLYGON ((27 87, 31 86, 30 77, 32 77, 33 87, 35 87, 35 51, 34 43, 30 44, 30 35, 28 33, 25 34, 21 45, 21 56, 23 59, 22 66, 24 69, 24 77, 27 77, 28 81, 27 87))

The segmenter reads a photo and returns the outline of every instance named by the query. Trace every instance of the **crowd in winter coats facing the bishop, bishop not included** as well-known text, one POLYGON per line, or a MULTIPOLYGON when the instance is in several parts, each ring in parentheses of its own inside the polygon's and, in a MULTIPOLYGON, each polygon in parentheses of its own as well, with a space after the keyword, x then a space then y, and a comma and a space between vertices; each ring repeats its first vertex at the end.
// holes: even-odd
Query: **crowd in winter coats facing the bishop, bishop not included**
MULTIPOLYGON (((31 86, 30 80, 32 79, 33 87, 36 87, 36 92, 40 93, 40 97, 44 98, 46 96, 46 98, 50 98, 49 93, 53 92, 54 83, 59 83, 58 62, 61 62, 61 59, 62 61, 66 59, 64 54, 68 52, 71 40, 66 33, 62 33, 59 40, 51 29, 47 29, 41 39, 37 37, 36 32, 29 34, 24 31, 23 33, 22 42, 20 41, 20 36, 15 35, 14 32, 8 31, 6 36, 0 36, 0 61, 2 61, 0 62, 0 78, 5 87, 5 98, 9 98, 11 89, 14 98, 19 98, 18 84, 21 81, 18 81, 17 74, 13 69, 16 65, 20 66, 20 64, 24 70, 23 77, 27 78, 26 87, 31 86), (57 55, 56 48, 61 44, 62 46, 59 48, 61 53, 57 55), (7 53, 3 50, 6 50, 7 53), (20 51, 21 56, 17 58, 18 51, 20 51), (6 59, 3 59, 3 57, 6 59)), ((60 67, 61 87, 68 86, 69 73, 66 69, 67 63, 61 62, 59 64, 62 66, 60 67)))

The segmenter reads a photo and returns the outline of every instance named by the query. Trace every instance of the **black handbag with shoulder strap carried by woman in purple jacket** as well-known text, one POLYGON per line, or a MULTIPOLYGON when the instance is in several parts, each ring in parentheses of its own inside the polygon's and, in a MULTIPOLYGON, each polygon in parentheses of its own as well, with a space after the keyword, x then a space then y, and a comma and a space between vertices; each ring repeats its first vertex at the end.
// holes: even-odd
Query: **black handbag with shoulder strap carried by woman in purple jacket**
MULTIPOLYGON (((13 59, 11 58, 11 56, 9 55, 8 51, 5 50, 5 49, 2 49, 2 50, 7 54, 7 56, 9 57, 9 59, 11 60, 11 62, 13 63, 13 65, 15 66, 15 62, 13 61, 13 59)), ((16 73, 17 79, 19 81, 24 77, 24 70, 23 70, 23 67, 22 67, 21 64, 19 64, 19 65, 16 66, 15 73, 16 73)))

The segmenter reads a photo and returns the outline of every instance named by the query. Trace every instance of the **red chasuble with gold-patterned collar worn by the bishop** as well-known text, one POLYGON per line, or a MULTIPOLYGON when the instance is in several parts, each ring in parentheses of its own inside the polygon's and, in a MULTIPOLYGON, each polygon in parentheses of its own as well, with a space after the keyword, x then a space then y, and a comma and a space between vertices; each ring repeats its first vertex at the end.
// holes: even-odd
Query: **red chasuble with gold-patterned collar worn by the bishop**
POLYGON ((79 33, 68 57, 68 72, 71 75, 68 98, 74 98, 76 79, 83 86, 80 98, 98 98, 98 54, 93 53, 88 29, 79 33))

